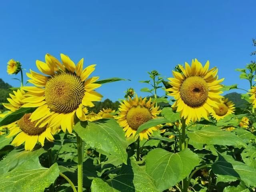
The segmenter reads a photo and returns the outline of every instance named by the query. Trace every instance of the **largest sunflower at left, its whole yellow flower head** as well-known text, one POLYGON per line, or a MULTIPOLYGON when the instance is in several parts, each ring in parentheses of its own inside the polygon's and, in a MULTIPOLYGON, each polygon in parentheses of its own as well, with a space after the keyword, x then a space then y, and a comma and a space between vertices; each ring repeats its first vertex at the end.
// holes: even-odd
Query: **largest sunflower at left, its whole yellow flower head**
POLYGON ((86 120, 84 107, 93 107, 93 101, 101 100, 102 95, 94 91, 101 84, 94 83, 99 77, 88 78, 96 65, 83 70, 83 58, 75 65, 68 56, 60 54, 60 57, 62 63, 50 54, 46 54, 46 62, 36 60, 36 66, 46 76, 32 70, 27 73, 28 82, 35 86, 22 87, 28 91, 23 107, 37 107, 30 120, 39 120, 39 127, 48 124, 71 133, 75 114, 80 120, 86 120))

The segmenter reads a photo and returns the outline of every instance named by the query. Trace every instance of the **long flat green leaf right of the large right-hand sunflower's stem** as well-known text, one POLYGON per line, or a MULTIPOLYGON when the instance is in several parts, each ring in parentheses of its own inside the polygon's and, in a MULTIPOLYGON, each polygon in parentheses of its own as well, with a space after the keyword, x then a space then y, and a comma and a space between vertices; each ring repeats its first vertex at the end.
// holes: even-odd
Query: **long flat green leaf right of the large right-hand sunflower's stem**
POLYGON ((246 144, 236 134, 220 130, 215 126, 206 126, 202 130, 188 132, 190 140, 201 144, 227 145, 235 147, 246 147, 246 144))

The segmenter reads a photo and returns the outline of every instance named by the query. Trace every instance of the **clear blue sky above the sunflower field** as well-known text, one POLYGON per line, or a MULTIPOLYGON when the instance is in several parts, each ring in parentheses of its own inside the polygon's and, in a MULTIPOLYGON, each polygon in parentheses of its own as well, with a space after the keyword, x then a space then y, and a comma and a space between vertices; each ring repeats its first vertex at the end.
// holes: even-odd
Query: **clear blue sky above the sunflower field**
POLYGON ((11 58, 27 70, 50 53, 97 64, 94 76, 132 81, 104 84, 98 91, 117 100, 133 87, 139 95, 147 71, 171 77, 176 64, 197 58, 219 68, 224 84, 248 89, 239 72, 250 60, 256 38, 255 0, 22 0, 0 6, 0 78, 11 58))

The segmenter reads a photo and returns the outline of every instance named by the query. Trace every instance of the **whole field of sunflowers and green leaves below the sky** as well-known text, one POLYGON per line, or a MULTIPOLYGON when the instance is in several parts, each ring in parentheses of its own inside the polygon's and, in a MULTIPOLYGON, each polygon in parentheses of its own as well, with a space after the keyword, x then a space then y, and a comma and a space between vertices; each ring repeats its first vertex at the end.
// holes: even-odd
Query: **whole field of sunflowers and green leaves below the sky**
POLYGON ((250 86, 241 108, 223 96, 239 86, 209 61, 148 72, 148 96, 128 88, 116 108, 96 104, 97 88, 125 79, 95 69, 46 54, 24 83, 22 64, 8 62, 21 86, 0 114, 1 192, 256 191, 255 63, 237 69, 250 86))

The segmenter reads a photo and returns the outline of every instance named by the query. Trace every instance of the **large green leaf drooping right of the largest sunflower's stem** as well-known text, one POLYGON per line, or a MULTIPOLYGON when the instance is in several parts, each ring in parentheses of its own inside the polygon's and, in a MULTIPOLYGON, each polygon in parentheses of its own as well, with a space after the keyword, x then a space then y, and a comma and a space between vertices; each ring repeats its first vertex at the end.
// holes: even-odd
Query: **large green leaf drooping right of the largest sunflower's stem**
POLYGON ((127 142, 124 131, 114 119, 102 119, 94 122, 78 122, 74 130, 89 144, 111 154, 126 164, 127 161, 127 142))

